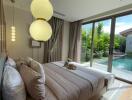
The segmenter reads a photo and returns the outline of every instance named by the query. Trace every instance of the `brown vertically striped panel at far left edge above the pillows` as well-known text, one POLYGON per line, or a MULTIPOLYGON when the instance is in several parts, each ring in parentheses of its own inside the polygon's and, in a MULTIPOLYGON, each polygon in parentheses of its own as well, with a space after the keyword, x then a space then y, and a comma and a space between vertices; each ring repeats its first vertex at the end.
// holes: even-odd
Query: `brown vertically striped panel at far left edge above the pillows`
POLYGON ((6 50, 6 22, 3 1, 0 0, 0 54, 6 50))

